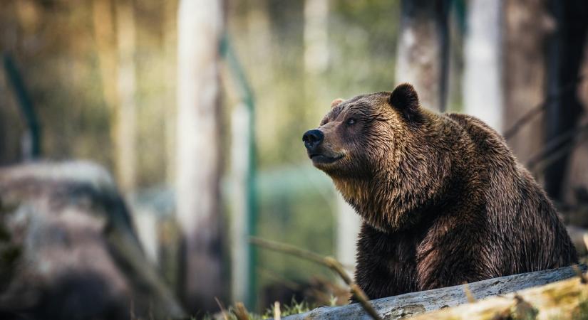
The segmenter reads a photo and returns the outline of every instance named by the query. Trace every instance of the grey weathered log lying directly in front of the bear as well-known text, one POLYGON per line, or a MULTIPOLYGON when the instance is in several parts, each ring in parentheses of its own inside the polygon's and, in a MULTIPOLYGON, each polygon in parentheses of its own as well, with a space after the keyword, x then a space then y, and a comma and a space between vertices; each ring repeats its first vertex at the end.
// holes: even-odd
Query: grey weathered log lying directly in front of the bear
MULTIPOLYGON (((587 267, 581 265, 579 270, 586 272, 587 267)), ((473 282, 467 285, 458 285, 423 292, 411 292, 395 297, 386 297, 372 300, 371 304, 383 319, 399 319, 405 316, 423 314, 451 306, 468 303, 468 292, 474 299, 484 299, 499 294, 518 292, 522 289, 542 286, 552 282, 569 279, 577 276, 573 267, 561 267, 552 270, 514 274, 506 277, 487 279, 473 282), (467 287, 467 289, 466 289, 467 287)), ((573 283, 578 281, 574 280, 573 283)), ((471 298, 471 297, 470 297, 471 298)), ((512 305, 510 298, 510 304, 512 305)), ((506 304, 505 304, 506 305, 506 304)), ((427 314, 428 316, 428 314, 427 314)), ((455 314, 453 314, 455 316, 455 314)), ((371 319, 359 304, 346 306, 323 306, 304 314, 294 314, 283 318, 284 320, 303 319, 371 319)), ((445 318, 443 318, 445 319, 445 318)))

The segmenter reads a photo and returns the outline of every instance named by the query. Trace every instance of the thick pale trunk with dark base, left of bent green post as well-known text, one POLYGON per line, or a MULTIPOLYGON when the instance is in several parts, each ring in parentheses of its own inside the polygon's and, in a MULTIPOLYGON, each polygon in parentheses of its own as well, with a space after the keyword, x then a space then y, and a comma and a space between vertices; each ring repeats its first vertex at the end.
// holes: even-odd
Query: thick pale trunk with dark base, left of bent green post
POLYGON ((225 298, 220 214, 219 41, 222 1, 180 1, 177 18, 177 218, 182 298, 190 311, 225 298))

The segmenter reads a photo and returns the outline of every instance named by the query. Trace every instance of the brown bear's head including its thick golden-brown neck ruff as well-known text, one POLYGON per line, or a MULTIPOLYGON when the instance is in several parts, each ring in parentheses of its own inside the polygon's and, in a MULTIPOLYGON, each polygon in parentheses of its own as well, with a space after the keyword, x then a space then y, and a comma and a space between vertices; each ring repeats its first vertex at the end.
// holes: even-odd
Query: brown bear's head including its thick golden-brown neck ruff
POLYGON ((334 100, 302 140, 312 164, 370 225, 398 230, 416 222, 416 211, 442 187, 447 170, 435 151, 438 122, 438 114, 420 107, 413 86, 403 84, 334 100))

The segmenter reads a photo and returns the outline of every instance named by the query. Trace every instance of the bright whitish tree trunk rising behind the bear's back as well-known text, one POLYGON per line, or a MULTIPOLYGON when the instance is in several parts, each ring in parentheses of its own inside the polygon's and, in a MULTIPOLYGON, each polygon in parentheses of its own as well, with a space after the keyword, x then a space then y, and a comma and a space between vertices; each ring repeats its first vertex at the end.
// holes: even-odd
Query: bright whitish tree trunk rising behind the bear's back
POLYGON ((502 131, 501 1, 471 0, 465 36, 464 112, 502 131))

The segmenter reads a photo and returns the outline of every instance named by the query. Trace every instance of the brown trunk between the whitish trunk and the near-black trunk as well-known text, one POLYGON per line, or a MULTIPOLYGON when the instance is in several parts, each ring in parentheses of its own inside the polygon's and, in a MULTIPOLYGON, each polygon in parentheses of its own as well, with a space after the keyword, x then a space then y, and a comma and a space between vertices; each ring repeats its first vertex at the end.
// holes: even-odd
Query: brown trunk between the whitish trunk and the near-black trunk
MULTIPOLYGON (((517 120, 545 99, 545 41, 553 28, 546 13, 547 0, 505 1, 502 47, 502 91, 504 128, 510 131, 517 120)), ((522 163, 542 148, 543 115, 533 117, 507 142, 522 163)))

